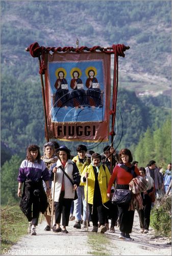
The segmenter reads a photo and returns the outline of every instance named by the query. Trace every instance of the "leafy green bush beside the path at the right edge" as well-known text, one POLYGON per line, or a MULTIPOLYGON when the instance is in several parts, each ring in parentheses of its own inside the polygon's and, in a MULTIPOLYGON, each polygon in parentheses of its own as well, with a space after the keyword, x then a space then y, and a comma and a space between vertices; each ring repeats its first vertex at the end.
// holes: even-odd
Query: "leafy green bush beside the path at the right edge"
POLYGON ((151 211, 150 224, 157 234, 171 237, 171 196, 162 197, 155 201, 151 211))

